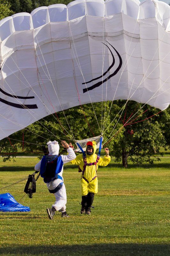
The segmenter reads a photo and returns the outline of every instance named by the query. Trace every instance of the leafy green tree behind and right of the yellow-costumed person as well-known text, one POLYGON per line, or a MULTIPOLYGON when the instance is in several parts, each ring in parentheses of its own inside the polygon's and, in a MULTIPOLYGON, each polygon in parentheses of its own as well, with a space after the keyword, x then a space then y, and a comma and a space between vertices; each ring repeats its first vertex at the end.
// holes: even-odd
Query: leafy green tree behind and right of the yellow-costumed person
POLYGON ((115 146, 116 161, 122 159, 124 167, 128 166, 128 159, 137 165, 142 163, 153 164, 155 160, 160 160, 153 156, 153 148, 158 153, 161 146, 165 148, 167 145, 162 123, 169 110, 153 116, 160 110, 145 105, 136 116, 127 122, 128 118, 133 116, 133 110, 135 110, 135 113, 142 107, 142 104, 133 101, 129 105, 129 108, 126 108, 126 118, 122 120, 124 124, 122 128, 123 136, 115 146), (135 119, 137 116, 138 118, 135 119))

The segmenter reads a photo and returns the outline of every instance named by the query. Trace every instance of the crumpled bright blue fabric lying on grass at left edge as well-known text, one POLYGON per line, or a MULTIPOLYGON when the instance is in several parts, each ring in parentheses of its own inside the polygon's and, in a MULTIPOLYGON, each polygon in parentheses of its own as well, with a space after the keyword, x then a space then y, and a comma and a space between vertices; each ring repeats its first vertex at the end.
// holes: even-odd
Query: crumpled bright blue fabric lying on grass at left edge
POLYGON ((0 194, 0 212, 30 212, 30 208, 19 204, 10 193, 5 193, 0 194))

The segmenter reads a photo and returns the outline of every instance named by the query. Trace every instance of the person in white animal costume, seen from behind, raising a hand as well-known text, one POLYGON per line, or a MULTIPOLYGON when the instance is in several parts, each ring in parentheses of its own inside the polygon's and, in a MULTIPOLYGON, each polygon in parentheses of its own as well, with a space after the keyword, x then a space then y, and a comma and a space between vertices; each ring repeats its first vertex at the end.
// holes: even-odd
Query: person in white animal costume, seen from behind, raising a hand
MULTIPOLYGON (((76 155, 72 148, 69 147, 67 142, 61 141, 62 146, 64 148, 67 148, 68 155, 61 155, 63 164, 70 162, 71 160, 76 158, 76 155)), ((48 141, 48 155, 57 155, 59 154, 59 144, 57 141, 48 141)), ((42 159, 41 159, 42 160, 42 159)), ((35 165, 35 171, 40 172, 41 169, 41 160, 39 163, 35 165)), ((62 212, 62 217, 69 217, 66 212, 66 203, 67 203, 67 196, 66 196, 66 189, 65 185, 63 183, 63 167, 61 172, 59 172, 60 178, 52 180, 48 183, 46 183, 47 188, 49 191, 52 191, 50 193, 53 193, 53 191, 56 191, 54 193, 55 196, 55 203, 52 205, 52 208, 47 208, 48 218, 50 220, 53 220, 55 211, 62 212), (62 179, 61 179, 62 178, 62 179)))

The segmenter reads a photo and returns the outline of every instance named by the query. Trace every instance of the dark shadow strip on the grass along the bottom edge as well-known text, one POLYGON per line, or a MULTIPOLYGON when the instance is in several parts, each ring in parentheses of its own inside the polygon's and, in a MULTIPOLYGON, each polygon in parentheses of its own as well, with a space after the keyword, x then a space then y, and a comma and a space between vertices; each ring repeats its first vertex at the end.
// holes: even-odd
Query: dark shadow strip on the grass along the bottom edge
MULTIPOLYGON (((28 238, 29 239, 29 238, 28 238)), ((36 239, 36 237, 35 237, 36 239)), ((44 237, 45 242, 45 237, 44 237)), ((92 245, 11 245, 0 248, 0 255, 90 255, 90 256, 169 256, 168 244, 92 244, 92 245)))

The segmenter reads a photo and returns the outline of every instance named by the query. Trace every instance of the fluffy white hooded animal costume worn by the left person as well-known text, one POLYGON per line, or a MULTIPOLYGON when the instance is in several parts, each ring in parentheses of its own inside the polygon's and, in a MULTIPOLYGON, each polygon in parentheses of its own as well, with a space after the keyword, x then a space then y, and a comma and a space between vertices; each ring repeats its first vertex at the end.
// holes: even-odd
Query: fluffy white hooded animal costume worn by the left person
MULTIPOLYGON (((59 154, 60 147, 56 140, 48 141, 47 145, 48 145, 49 155, 58 155, 59 154)), ((63 164, 66 164, 76 158, 76 155, 72 148, 68 148, 67 152, 68 152, 68 155, 66 155, 66 156, 61 155, 63 164)), ((41 160, 38 164, 35 165, 35 171, 40 171, 40 167, 41 167, 41 160)), ((63 178, 63 168, 59 174, 63 178)), ((63 180, 56 179, 56 180, 52 180, 46 184, 47 184, 48 189, 53 190, 60 183, 63 183, 63 180)), ((54 193, 54 195, 55 195, 55 204, 52 205, 52 208, 54 207, 56 211, 65 212, 67 196, 66 196, 66 189, 65 189, 64 183, 63 183, 63 186, 57 192, 54 193)))

